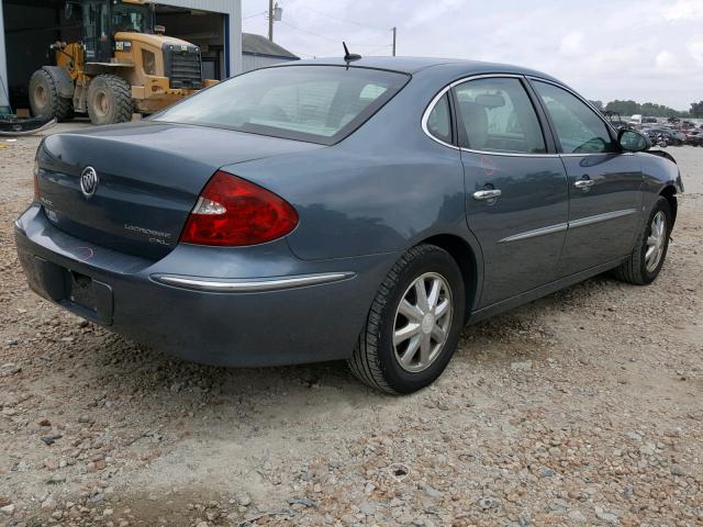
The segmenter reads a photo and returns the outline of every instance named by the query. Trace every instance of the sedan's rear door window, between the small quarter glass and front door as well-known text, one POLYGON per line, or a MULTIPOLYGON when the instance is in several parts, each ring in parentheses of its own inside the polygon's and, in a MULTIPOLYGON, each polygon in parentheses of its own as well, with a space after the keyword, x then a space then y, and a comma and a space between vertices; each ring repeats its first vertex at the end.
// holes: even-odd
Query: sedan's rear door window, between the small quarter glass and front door
POLYGON ((535 109, 520 79, 469 80, 455 88, 466 136, 475 150, 544 154, 535 109))

